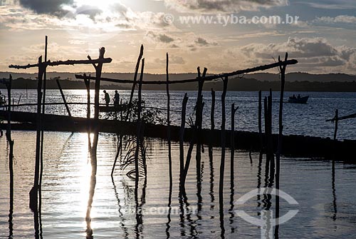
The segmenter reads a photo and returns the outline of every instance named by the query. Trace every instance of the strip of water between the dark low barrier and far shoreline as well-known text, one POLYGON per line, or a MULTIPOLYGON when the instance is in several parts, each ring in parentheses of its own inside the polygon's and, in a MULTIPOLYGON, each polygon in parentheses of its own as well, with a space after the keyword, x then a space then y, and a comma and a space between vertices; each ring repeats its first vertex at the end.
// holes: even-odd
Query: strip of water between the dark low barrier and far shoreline
MULTIPOLYGON (((86 103, 87 96, 85 90, 64 90, 68 102, 86 103)), ((101 92, 101 98, 104 98, 101 92)), ((111 98, 114 96, 114 91, 108 91, 111 98)), ((195 102, 197 101, 197 91, 188 91, 189 101, 187 104, 187 117, 194 112, 195 102)), ((210 108, 211 108, 211 93, 204 91, 204 128, 210 128, 210 108)), ((298 95, 298 92, 286 92, 286 99, 291 94, 298 95)), ((37 93, 35 90, 13 90, 14 103, 36 103, 37 93)), ((61 94, 58 90, 49 90, 46 93, 46 101, 48 103, 63 102, 61 94)), ((91 91, 92 102, 94 102, 94 91, 91 91)), ((263 92, 263 96, 267 96, 267 92, 263 92)), ((284 121, 283 133, 285 134, 300 134, 307 136, 333 137, 334 125, 331 122, 325 122, 328 118, 333 118, 335 109, 339 110, 339 116, 345 116, 356 111, 356 93, 329 93, 329 92, 300 92, 301 96, 310 96, 308 104, 300 105, 295 103, 285 103, 283 108, 284 121)), ((180 111, 182 109, 183 91, 171 92, 171 110, 180 111)), ((130 98, 130 91, 120 91, 120 97, 123 101, 130 98)), ((221 92, 216 92, 216 127, 221 124, 221 92)), ((145 100, 145 106, 166 108, 166 93, 165 91, 143 91, 142 99, 145 100)), ((278 132, 278 102, 279 92, 273 92, 273 131, 278 132)), ((104 103, 104 102, 102 102, 104 103)), ((258 92, 240 92, 229 91, 226 95, 226 121, 230 122, 231 104, 235 103, 239 106, 236 112, 236 130, 256 131, 258 132, 258 92)), ((86 106, 70 105, 70 111, 73 116, 86 117, 86 106)), ((36 111, 35 106, 15 107, 18 111, 36 111)), ((66 115, 64 106, 46 106, 46 112, 66 115)), ((94 111, 92 110, 92 113, 94 111)), ((105 117, 105 115, 103 115, 105 117)), ((162 117, 165 118, 163 111, 162 117)), ((180 125, 180 113, 172 112, 171 121, 175 125, 180 125)), ((339 122, 338 138, 356 139, 356 123, 354 120, 346 120, 339 122)), ((230 123, 226 124, 229 128, 230 123)))

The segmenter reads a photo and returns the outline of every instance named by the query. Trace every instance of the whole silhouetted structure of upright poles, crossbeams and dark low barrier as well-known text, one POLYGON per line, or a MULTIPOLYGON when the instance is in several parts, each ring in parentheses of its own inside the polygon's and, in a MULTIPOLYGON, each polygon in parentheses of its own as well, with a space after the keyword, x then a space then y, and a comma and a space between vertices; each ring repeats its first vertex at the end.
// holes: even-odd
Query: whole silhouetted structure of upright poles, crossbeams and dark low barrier
MULTIPOLYGON (((141 46, 140 54, 137 59, 137 64, 135 66, 135 75, 133 81, 125 79, 115 79, 115 78, 103 78, 101 77, 103 71, 103 65, 105 63, 110 63, 112 59, 105 58, 105 48, 99 50, 98 59, 91 59, 88 56, 88 60, 68 60, 68 61, 48 61, 47 60, 47 37, 46 37, 46 46, 45 46, 45 59, 42 61, 42 56, 38 58, 38 63, 28 64, 26 66, 9 66, 10 68, 17 69, 26 69, 26 68, 38 68, 38 88, 37 88, 37 112, 28 113, 28 112, 19 112, 11 111, 11 91, 9 91, 9 103, 6 111, 0 111, 0 116, 8 117, 8 128, 12 129, 21 129, 21 130, 36 130, 36 163, 35 163, 35 177, 33 188, 30 192, 30 207, 33 212, 38 213, 38 193, 40 193, 40 207, 41 208, 41 175, 43 171, 43 131, 80 131, 80 132, 93 132, 94 140, 90 143, 90 158, 92 164, 92 177, 90 185, 90 199, 88 200, 88 210, 87 210, 87 235, 91 237, 93 230, 90 227, 90 208, 93 203, 93 194, 95 190, 95 177, 96 177, 96 153, 98 146, 98 137, 99 132, 112 132, 117 133, 118 136, 125 134, 135 136, 135 169, 132 171, 135 175, 135 201, 137 208, 143 205, 145 202, 145 186, 142 189, 142 198, 138 198, 138 188, 139 188, 139 176, 142 176, 142 173, 146 177, 146 166, 145 166, 145 156, 139 162, 139 153, 145 153, 144 146, 144 136, 155 137, 155 138, 165 138, 168 141, 169 147, 169 203, 168 207, 170 208, 172 200, 172 156, 171 151, 171 141, 179 141, 179 201, 180 203, 187 203, 187 195, 185 193, 184 184, 187 178, 189 171, 189 166, 192 160, 192 153, 194 146, 197 146, 196 150, 196 163, 197 163, 197 195, 198 201, 201 203, 201 173, 204 169, 204 165, 201 164, 201 152, 204 150, 203 145, 209 145, 209 159, 211 159, 212 165, 212 147, 219 146, 221 147, 221 158, 220 158, 220 175, 219 175, 219 207, 220 207, 220 223, 221 223, 221 236, 224 236, 224 171, 225 171, 225 155, 226 147, 231 148, 231 208, 234 208, 233 199, 234 199, 234 151, 235 149, 244 149, 244 150, 253 150, 253 151, 263 151, 266 152, 267 161, 266 161, 266 178, 269 176, 269 180, 266 180, 266 186, 271 186, 273 183, 276 183, 276 188, 280 186, 280 158, 281 155, 288 156, 306 156, 306 157, 324 157, 327 158, 330 156, 333 151, 340 152, 340 157, 342 155, 349 155, 353 153, 353 149, 356 146, 356 141, 336 141, 336 131, 334 141, 330 138, 317 138, 309 136, 283 136, 283 94, 284 94, 284 84, 286 80, 286 67, 288 65, 293 65, 298 63, 296 60, 288 60, 288 54, 286 54, 284 61, 281 61, 278 58, 278 61, 264 66, 257 66, 254 68, 247 68, 244 70, 233 71, 230 73, 221 73, 211 76, 206 76, 207 68, 204 68, 204 71, 201 73, 200 68, 197 68, 197 78, 184 79, 178 81, 169 80, 169 56, 166 55, 167 64, 166 64, 166 81, 145 81, 144 80, 144 68, 145 68, 145 58, 144 48, 141 46), (63 103, 66 106, 68 111, 68 116, 55 116, 50 114, 45 114, 46 103, 46 68, 48 66, 63 66, 63 65, 77 65, 77 64, 91 64, 95 68, 95 76, 75 75, 78 79, 83 79, 88 98, 86 103, 87 105, 87 117, 78 118, 71 116, 70 108, 68 105, 70 103, 66 102, 66 96, 64 95, 61 89, 61 83, 57 80, 58 88, 61 91, 61 96, 63 98, 63 103), (140 79, 137 81, 138 71, 140 69, 140 79), (245 73, 252 73, 256 71, 265 71, 271 68, 279 68, 281 72, 281 94, 280 94, 280 103, 279 103, 279 117, 278 117, 278 135, 273 134, 272 132, 272 93, 266 98, 262 98, 261 91, 258 93, 258 133, 253 132, 244 132, 244 131, 235 131, 235 113, 237 108, 233 104, 231 106, 231 131, 226 130, 226 93, 228 91, 228 81, 231 80, 231 76, 239 76, 245 73), (221 129, 215 129, 214 114, 215 114, 215 91, 211 89, 211 128, 205 129, 202 128, 202 118, 203 118, 203 109, 204 109, 204 98, 203 98, 203 86, 207 81, 219 80, 224 84, 224 91, 221 95, 221 129), (94 103, 90 102, 90 81, 95 81, 95 96, 94 103), (121 117, 121 121, 117 120, 101 120, 99 118, 100 112, 100 102, 99 102, 99 93, 100 93, 100 82, 112 82, 112 83, 130 83, 132 84, 132 90, 130 93, 130 100, 127 105, 120 104, 121 116, 125 113, 124 117, 121 117), (195 120, 191 118, 189 124, 191 128, 186 128, 186 108, 188 96, 185 94, 182 102, 182 118, 180 126, 171 126, 170 124, 170 95, 169 95, 169 86, 176 83, 197 83, 197 102, 195 107, 195 120), (165 125, 154 125, 150 123, 145 123, 142 120, 142 86, 143 85, 165 85, 167 91, 167 126, 165 125), (138 86, 138 101, 137 101, 137 118, 135 122, 129 121, 132 109, 133 94, 135 88, 138 86), (263 102, 262 102, 263 101, 263 102), (265 120, 265 132, 262 131, 262 110, 264 103, 264 120, 265 120), (94 105, 94 117, 90 118, 90 106, 94 105), (10 118, 11 117, 11 118, 10 118), (19 123, 12 123, 19 122, 19 123), (184 141, 189 142, 189 148, 187 151, 187 156, 184 155, 184 141), (283 147, 282 147, 283 146, 283 147), (296 147, 298 146, 298 147, 296 147), (276 158, 275 158, 276 156, 276 158), (185 161, 184 161, 185 159, 185 161), (140 168, 143 167, 143 168, 140 168), (275 178, 276 177, 276 178, 275 178)), ((53 103, 52 103, 53 104, 53 103)), ((23 104, 23 106, 29 104, 23 104)), ((101 108, 101 110, 112 110, 112 108, 101 108)), ((114 108, 116 110, 116 108, 114 108)), ((338 121, 344 118, 353 118, 352 116, 345 116, 339 118, 336 114, 333 120, 338 121)), ((337 126, 337 123, 336 123, 337 126)), ((11 134, 10 134, 11 135, 11 134)), ((118 147, 117 156, 115 158, 114 166, 112 167, 111 175, 115 170, 115 164, 117 163, 118 153, 120 147, 122 147, 122 137, 120 138, 120 146, 118 147)), ((11 139, 11 138, 10 138, 11 139)), ((262 154, 261 154, 262 155, 262 154)), ((258 163, 258 167, 261 170, 261 158, 258 163)), ((351 160, 351 159, 350 159, 351 160)), ((260 171, 261 179, 261 171, 260 171)), ((145 178, 146 183, 147 178, 145 178)), ((144 185, 145 185, 144 183, 144 185)), ((261 180, 259 186, 261 185, 261 180)), ((211 189, 212 190, 212 189, 211 189)), ((181 205, 182 205, 181 204, 181 205)), ((199 203, 198 203, 199 204, 199 203)), ((279 213, 279 198, 276 195, 276 206, 277 206, 277 216, 279 213)), ((188 217, 187 217, 188 218, 188 217)), ((199 215, 198 215, 199 218, 199 215)), ((137 210, 136 212, 137 225, 142 224, 142 214, 137 210)), ((167 235, 169 235, 169 222, 170 214, 168 215, 167 223, 167 235)), ((278 237, 278 228, 276 227, 275 235, 278 237)))

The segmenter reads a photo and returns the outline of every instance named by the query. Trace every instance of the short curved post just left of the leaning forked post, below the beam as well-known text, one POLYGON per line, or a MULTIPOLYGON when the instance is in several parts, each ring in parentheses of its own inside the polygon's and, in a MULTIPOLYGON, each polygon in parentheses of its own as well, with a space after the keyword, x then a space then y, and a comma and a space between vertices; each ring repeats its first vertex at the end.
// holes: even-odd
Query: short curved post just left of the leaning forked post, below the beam
POLYGON ((184 94, 183 103, 182 103, 182 116, 181 116, 181 125, 179 128, 179 182, 181 188, 184 188, 184 131, 185 131, 185 114, 187 111, 187 102, 188 95, 184 94))

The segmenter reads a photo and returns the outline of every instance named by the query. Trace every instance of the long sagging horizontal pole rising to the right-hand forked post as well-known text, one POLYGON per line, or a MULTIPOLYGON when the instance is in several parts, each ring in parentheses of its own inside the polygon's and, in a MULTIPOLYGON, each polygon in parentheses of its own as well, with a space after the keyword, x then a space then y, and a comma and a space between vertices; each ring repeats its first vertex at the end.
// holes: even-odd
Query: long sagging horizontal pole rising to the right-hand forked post
MULTIPOLYGON (((254 68, 247 68, 244 70, 239 70, 239 71, 233 71, 230 73, 221 73, 218 75, 212 75, 212 76, 205 76, 205 77, 200 77, 200 78, 193 78, 193 79, 187 79, 187 80, 179 80, 179 81, 142 81, 142 84, 145 85, 166 85, 167 82, 169 84, 174 84, 174 83, 191 83, 191 82, 198 82, 201 80, 204 81, 214 81, 219 78, 225 78, 229 76, 237 76, 241 75, 244 73, 251 73, 255 71, 266 71, 270 68, 275 68, 278 66, 287 66, 287 65, 294 65, 298 63, 297 60, 288 60, 288 61, 281 61, 281 62, 276 62, 264 66, 257 66, 254 68)), ((78 79, 90 79, 90 80, 95 80, 95 76, 82 76, 82 75, 75 75, 75 78, 78 79)), ((130 80, 122 80, 122 79, 114 79, 114 78, 100 78, 100 81, 108 81, 108 82, 113 82, 113 83, 132 83, 130 80)))

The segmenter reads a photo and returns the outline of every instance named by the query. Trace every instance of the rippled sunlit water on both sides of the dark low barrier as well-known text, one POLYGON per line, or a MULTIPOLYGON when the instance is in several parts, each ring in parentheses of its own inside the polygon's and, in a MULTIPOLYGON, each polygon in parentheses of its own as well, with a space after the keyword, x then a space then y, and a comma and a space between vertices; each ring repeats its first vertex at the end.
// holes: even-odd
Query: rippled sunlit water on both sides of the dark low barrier
MULTIPOLYGON (((49 91, 48 101, 61 102, 57 91, 49 91)), ((84 91, 65 91, 70 102, 84 102, 84 91)), ((112 93, 110 91, 110 93, 112 93)), ((22 95, 21 102, 34 102, 34 91, 15 91, 22 95)), ((333 124, 325 123, 333 117, 335 108, 340 114, 354 113, 355 93, 308 93, 307 105, 285 105, 285 131, 293 134, 332 136, 333 124)), ((195 101, 189 93, 190 106, 195 101)), ((278 101, 278 95, 276 101, 278 101)), ((182 92, 172 93, 172 108, 179 110, 182 92)), ((257 131, 256 93, 229 93, 228 103, 240 106, 236 128, 257 131)), ((122 92, 127 97, 127 92, 122 92)), ((150 106, 164 107, 163 92, 145 92, 150 106)), ((209 92, 205 112, 209 112, 209 92)), ((219 98, 219 93, 217 95, 219 98)), ((217 103, 219 105, 219 103, 217 103)), ((277 105, 275 103, 277 113, 277 105)), ((85 116, 85 107, 70 106, 73 115, 85 116)), ((32 108, 34 109, 34 108, 32 108)), ((31 110, 25 108, 23 110, 31 110)), ((66 113, 64 108, 50 107, 47 111, 66 113)), ((192 107, 189 107, 192 112, 192 107)), ((206 119, 209 116, 206 116, 206 119)), ((219 127, 219 108, 216 112, 219 127)), ((209 122, 206 120, 206 122, 209 122)), ((174 115, 179 123, 179 113, 174 115)), ((275 124, 276 125, 276 124, 275 124)), ((205 125, 209 127, 208 124, 205 125)), ((340 123, 340 138, 356 138, 355 124, 340 123)), ((14 215, 9 224, 9 148, 5 138, 0 138, 0 238, 33 238, 35 234, 33 213, 28 208, 28 193, 33 185, 36 132, 14 131, 14 215), (13 228, 13 230, 11 230, 13 228)), ((224 220, 219 220, 219 167, 221 148, 213 148, 213 159, 208 148, 201 154, 201 189, 197 187, 195 152, 187 177, 187 200, 179 201, 179 144, 172 143, 172 204, 169 213, 169 164, 166 141, 147 138, 147 185, 140 181, 140 195, 145 189, 142 203, 142 222, 136 220, 135 181, 126 176, 129 168, 117 166, 113 180, 112 163, 117 152, 115 134, 100 133, 98 144, 98 173, 90 228, 93 238, 261 238, 261 227, 241 218, 236 210, 243 210, 261 219, 261 213, 276 209, 274 197, 269 200, 254 195, 244 204, 236 204, 241 196, 268 182, 266 159, 259 160, 258 153, 236 151, 234 156, 234 190, 231 190, 230 151, 226 150, 224 183, 224 220), (182 208, 181 208, 182 206, 182 208), (197 208, 200 208, 197 213, 197 208), (231 210, 232 209, 232 210, 231 210), (183 213, 182 213, 183 211, 183 213), (169 217, 170 215, 170 217, 169 217)), ((184 146, 187 153, 188 145, 184 146)), ((85 215, 90 194, 92 172, 88 153, 88 134, 45 132, 42 192, 43 238, 85 238, 88 225, 85 215)), ((122 157, 125 156, 125 151, 122 157)), ((342 160, 342 159, 341 159, 342 160)), ((281 199, 281 215, 298 210, 293 218, 279 226, 280 238, 355 238, 356 237, 356 166, 335 163, 333 173, 329 161, 308 158, 281 159, 281 190, 298 204, 281 199)), ((141 200, 142 198, 142 200, 141 200)))

